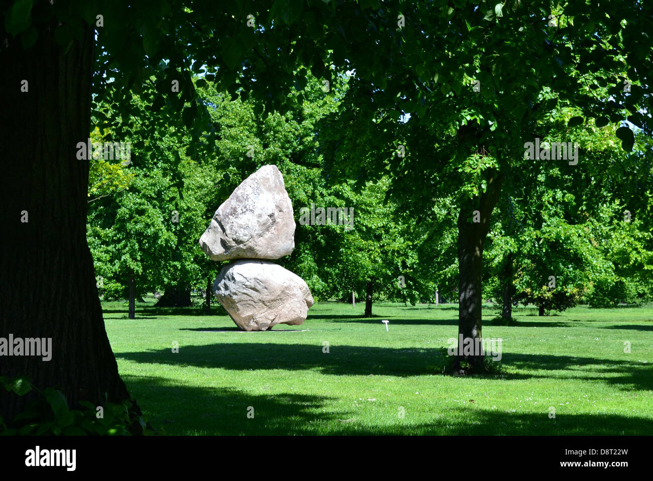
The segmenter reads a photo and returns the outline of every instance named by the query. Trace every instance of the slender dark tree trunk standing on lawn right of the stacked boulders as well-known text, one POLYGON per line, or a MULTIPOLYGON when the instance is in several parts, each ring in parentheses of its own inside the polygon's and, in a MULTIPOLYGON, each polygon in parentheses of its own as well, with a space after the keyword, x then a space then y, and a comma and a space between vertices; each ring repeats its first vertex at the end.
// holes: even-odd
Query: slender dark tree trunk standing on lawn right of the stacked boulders
POLYGON ((466 202, 458 214, 458 358, 454 369, 460 372, 460 363, 469 363, 466 372, 483 371, 481 341, 481 279, 483 273, 483 243, 490 228, 490 214, 501 190, 501 179, 488 181, 485 193, 466 202), (473 211, 478 210, 480 222, 473 222, 473 211), (460 339, 463 345, 460 345, 460 339), (468 345, 468 354, 462 350, 468 345), (471 354, 469 354, 471 352, 471 354))

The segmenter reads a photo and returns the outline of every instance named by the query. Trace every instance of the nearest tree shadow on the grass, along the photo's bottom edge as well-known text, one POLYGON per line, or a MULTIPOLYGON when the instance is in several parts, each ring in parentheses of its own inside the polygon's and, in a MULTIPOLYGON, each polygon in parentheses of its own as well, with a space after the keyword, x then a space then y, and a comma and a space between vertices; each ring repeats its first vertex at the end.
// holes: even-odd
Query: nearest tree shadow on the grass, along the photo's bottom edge
MULTIPOLYGON (((517 413, 462 405, 428 412, 425 422, 411 423, 378 409, 334 409, 338 399, 319 394, 251 394, 234 387, 177 384, 161 377, 124 376, 151 425, 170 435, 646 435, 653 420, 616 414, 517 413), (192 402, 190 402, 192 400, 192 402), (252 412, 253 418, 247 418, 252 412), (379 416, 379 414, 381 414, 379 416), (372 422, 370 422, 370 418, 372 422)), ((492 401, 489 401, 491 404, 492 401)))

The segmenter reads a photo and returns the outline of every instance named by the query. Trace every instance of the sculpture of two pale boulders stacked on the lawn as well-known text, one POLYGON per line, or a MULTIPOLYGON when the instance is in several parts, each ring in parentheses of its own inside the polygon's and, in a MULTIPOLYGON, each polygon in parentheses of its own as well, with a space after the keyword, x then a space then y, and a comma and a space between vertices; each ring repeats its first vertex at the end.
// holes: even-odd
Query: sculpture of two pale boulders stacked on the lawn
POLYGON ((298 326, 313 305, 304 279, 270 262, 295 249, 293 215, 281 172, 264 165, 236 187, 200 238, 213 260, 235 260, 217 275, 213 292, 242 330, 298 326))

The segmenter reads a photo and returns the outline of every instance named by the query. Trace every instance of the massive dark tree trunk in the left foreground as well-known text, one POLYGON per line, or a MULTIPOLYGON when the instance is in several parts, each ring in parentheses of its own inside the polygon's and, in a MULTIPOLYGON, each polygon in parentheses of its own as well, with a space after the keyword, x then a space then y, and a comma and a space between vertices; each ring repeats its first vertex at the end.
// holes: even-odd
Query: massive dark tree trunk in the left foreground
MULTIPOLYGON (((35 5, 38 10, 52 8, 35 5)), ((65 56, 54 27, 39 26, 35 46, 0 39, 0 337, 52 338, 52 359, 3 356, 0 375, 27 375, 59 388, 69 405, 128 399, 111 350, 86 242, 89 162, 76 158, 89 136, 93 29, 84 25, 65 56), (27 80, 28 91, 20 91, 27 80), (21 222, 27 211, 27 223, 21 222)), ((12 420, 27 396, 0 390, 0 415, 12 420)))

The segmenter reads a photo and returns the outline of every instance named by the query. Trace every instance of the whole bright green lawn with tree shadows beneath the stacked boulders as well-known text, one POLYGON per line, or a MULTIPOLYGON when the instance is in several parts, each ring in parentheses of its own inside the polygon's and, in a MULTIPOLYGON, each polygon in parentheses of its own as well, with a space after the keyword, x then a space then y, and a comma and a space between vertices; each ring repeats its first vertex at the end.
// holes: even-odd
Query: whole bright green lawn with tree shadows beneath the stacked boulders
POLYGON ((227 316, 146 305, 129 320, 125 303, 103 303, 104 319, 121 376, 161 433, 653 434, 650 307, 517 309, 518 326, 483 328, 503 339, 500 373, 466 379, 438 373, 457 305, 379 303, 366 319, 363 305, 319 303, 302 326, 251 333, 227 316))

